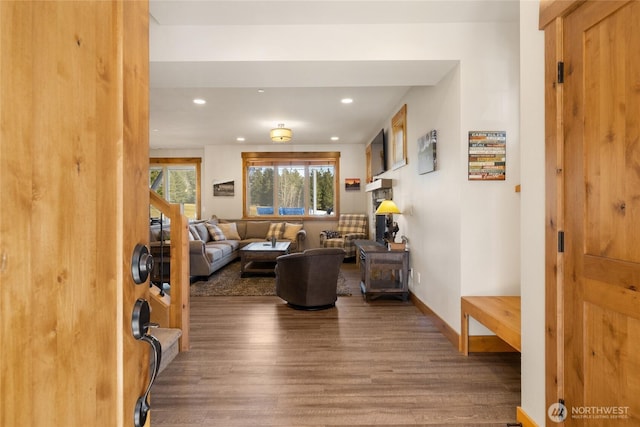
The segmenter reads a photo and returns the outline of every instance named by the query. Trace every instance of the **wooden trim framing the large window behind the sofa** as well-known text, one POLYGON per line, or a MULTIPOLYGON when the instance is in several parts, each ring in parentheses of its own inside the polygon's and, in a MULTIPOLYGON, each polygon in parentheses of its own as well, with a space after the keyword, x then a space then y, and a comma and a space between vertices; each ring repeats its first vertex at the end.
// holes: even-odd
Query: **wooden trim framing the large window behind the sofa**
POLYGON ((322 220, 322 221, 335 221, 340 216, 340 152, 339 151, 303 151, 303 152, 287 152, 287 151, 264 151, 264 152, 242 152, 242 218, 244 219, 302 219, 302 220, 322 220), (282 166, 284 162, 310 162, 310 161, 332 161, 335 164, 335 189, 334 189, 334 201, 335 209, 334 215, 329 216, 316 216, 316 215, 273 215, 266 216, 250 216, 247 211, 247 168, 251 162, 272 161, 278 166, 282 166), (279 164, 280 163, 280 164, 279 164))

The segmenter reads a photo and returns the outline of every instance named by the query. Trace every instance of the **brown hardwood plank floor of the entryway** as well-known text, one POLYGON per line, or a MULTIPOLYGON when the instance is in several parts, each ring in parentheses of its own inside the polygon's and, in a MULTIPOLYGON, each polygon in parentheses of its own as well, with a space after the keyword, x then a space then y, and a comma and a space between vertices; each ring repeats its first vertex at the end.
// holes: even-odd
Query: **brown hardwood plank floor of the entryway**
POLYGON ((191 299, 191 350, 153 386, 157 426, 505 426, 520 354, 459 354, 411 302, 353 296, 308 312, 277 297, 191 299))

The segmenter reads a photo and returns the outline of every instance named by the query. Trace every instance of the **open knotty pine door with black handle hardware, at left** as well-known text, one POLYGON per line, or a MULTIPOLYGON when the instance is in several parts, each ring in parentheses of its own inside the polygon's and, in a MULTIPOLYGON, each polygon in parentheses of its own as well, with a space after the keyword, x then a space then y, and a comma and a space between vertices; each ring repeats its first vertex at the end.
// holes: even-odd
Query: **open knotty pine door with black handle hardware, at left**
POLYGON ((0 425, 132 426, 148 5, 0 2, 0 425))

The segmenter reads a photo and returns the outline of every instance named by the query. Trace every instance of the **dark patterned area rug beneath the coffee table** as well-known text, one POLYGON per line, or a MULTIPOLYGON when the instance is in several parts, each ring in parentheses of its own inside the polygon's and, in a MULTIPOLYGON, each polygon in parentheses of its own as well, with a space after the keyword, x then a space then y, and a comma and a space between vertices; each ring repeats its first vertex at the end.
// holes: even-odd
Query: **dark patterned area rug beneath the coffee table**
MULTIPOLYGON (((240 277, 240 262, 234 261, 213 273, 206 281, 191 285, 192 297, 206 296, 269 296, 276 294, 276 279, 273 276, 240 277)), ((342 272, 338 277, 338 295, 350 296, 342 272)))

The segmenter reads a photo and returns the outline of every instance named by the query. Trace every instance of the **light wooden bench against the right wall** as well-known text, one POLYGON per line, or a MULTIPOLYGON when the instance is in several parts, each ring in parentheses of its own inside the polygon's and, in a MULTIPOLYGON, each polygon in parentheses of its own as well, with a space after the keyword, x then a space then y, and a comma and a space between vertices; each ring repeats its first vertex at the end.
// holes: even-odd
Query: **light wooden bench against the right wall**
POLYGON ((520 297, 462 297, 460 351, 469 355, 469 317, 482 323, 518 351, 520 346, 520 297))

